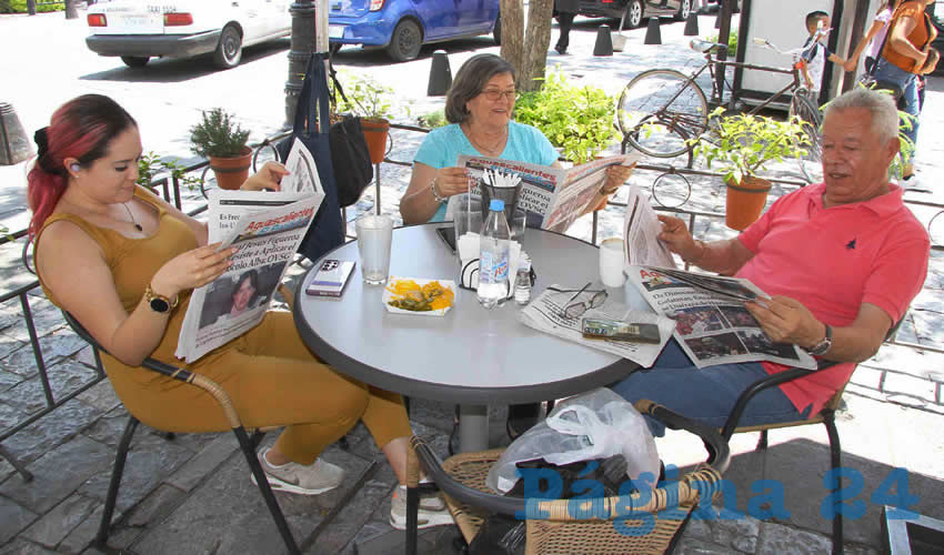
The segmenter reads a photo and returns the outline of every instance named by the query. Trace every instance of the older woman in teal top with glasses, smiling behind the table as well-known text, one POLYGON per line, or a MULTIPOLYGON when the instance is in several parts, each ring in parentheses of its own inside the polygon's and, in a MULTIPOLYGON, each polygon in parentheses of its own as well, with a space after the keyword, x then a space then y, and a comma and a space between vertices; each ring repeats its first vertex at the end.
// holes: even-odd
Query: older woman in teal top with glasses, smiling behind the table
MULTIPOLYGON (((426 135, 413 160, 413 175, 400 199, 403 223, 441 222, 450 196, 466 191, 466 170, 460 154, 492 157, 558 167, 558 151, 540 130, 511 121, 514 110, 514 68, 495 54, 470 58, 445 99, 444 128, 426 135)), ((600 201, 629 178, 630 168, 607 170, 600 201)))

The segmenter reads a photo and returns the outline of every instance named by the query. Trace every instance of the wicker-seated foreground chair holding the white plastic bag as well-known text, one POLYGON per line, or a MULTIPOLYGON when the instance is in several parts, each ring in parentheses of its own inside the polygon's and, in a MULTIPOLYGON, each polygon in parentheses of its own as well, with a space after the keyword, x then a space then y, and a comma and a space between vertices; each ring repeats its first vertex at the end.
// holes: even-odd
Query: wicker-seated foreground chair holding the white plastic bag
MULTIPOLYGON (((727 470, 729 448, 717 431, 681 416, 651 401, 636 408, 664 422, 673 430, 686 430, 700 436, 709 451, 706 464, 677 482, 661 483, 651 495, 581 500, 525 500, 492 493, 485 477, 503 450, 463 453, 445 462, 420 437, 410 441, 406 475, 406 553, 416 553, 419 507, 419 464, 443 492, 446 505, 465 542, 471 542, 486 515, 544 514, 548 518, 528 518, 525 552, 540 553, 663 553, 674 545, 702 496, 711 498, 720 488, 727 470), (535 513, 535 509, 540 513, 535 513), (626 512, 632 511, 629 515, 626 512), (632 535, 621 527, 636 526, 643 514, 652 522, 645 534, 632 535), (590 515, 590 516, 589 516, 590 515), (651 516, 651 519, 650 519, 651 516)), ((645 522, 645 521, 642 521, 645 522)))

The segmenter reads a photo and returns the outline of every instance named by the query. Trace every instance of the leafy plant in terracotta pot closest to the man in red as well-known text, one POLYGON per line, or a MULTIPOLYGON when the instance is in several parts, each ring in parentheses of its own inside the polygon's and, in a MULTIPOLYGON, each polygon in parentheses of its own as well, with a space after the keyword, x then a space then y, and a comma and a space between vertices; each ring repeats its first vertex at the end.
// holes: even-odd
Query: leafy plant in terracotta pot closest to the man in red
POLYGON ((719 108, 711 114, 712 135, 691 140, 695 155, 704 155, 707 168, 721 165, 727 185, 725 223, 743 231, 761 216, 771 182, 759 178, 770 162, 796 158, 810 147, 799 120, 777 121, 765 115, 723 115, 719 108))

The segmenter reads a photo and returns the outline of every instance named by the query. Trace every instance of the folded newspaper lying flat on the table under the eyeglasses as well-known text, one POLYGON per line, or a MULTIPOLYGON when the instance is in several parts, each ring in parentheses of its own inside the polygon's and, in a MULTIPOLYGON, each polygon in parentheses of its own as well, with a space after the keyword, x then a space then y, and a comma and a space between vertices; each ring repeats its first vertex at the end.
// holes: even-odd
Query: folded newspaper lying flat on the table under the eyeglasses
POLYGON ((543 293, 532 300, 518 313, 519 322, 529 327, 550 333, 558 337, 580 343, 592 349, 599 349, 623 359, 629 359, 641 366, 652 366, 662 347, 672 336, 675 322, 653 312, 633 310, 616 301, 603 303, 597 309, 590 309, 580 317, 569 319, 564 316, 564 309, 573 296, 574 287, 563 285, 551 285, 543 293), (570 290, 560 292, 554 290, 570 290), (622 322, 646 323, 659 325, 659 344, 632 343, 627 341, 613 341, 600 339, 585 339, 581 329, 583 319, 619 320, 622 322))

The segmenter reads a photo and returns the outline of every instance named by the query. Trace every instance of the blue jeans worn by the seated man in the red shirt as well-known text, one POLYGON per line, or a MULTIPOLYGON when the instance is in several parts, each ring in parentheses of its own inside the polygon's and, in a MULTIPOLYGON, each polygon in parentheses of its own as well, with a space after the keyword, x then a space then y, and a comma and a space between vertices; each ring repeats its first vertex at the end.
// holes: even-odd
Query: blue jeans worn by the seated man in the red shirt
MULTIPOLYGON (((610 385, 631 403, 647 398, 689 418, 721 428, 734 403, 749 385, 769 376, 757 362, 717 364, 699 370, 674 339, 669 340, 651 369, 637 370, 610 385)), ((739 426, 790 422, 810 416, 793 406, 780 387, 754 395, 741 416, 739 426)), ((665 425, 646 416, 652 435, 665 435, 665 425)))

